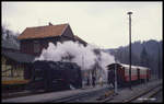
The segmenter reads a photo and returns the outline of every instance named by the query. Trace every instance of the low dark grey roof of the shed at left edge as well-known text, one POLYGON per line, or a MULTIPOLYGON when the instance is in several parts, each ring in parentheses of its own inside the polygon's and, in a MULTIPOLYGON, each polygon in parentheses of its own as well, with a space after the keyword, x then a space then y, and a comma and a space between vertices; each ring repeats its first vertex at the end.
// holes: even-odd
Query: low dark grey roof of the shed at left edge
POLYGON ((1 55, 10 58, 10 59, 13 59, 17 62, 32 62, 35 57, 32 56, 32 55, 27 55, 27 54, 22 54, 22 53, 19 53, 19 51, 7 51, 7 50, 2 50, 1 55))

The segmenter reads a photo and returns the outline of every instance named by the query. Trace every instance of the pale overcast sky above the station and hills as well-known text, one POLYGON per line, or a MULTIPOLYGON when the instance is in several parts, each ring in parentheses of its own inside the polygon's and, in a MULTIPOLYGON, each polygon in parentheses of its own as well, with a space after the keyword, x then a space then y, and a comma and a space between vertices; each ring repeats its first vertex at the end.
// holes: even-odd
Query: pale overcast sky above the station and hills
POLYGON ((162 41, 162 2, 2 2, 2 25, 22 33, 26 27, 69 23, 73 34, 102 48, 131 41, 162 41))

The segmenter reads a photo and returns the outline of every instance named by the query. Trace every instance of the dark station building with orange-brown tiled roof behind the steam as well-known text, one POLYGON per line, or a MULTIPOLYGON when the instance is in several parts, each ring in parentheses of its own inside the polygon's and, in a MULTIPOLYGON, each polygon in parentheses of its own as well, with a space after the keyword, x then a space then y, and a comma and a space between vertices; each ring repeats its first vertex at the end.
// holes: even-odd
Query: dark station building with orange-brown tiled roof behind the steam
POLYGON ((69 24, 58 24, 36 27, 26 27, 25 31, 17 37, 20 39, 21 53, 39 56, 43 48, 48 47, 48 43, 63 43, 66 41, 79 42, 86 46, 86 42, 73 35, 69 24))

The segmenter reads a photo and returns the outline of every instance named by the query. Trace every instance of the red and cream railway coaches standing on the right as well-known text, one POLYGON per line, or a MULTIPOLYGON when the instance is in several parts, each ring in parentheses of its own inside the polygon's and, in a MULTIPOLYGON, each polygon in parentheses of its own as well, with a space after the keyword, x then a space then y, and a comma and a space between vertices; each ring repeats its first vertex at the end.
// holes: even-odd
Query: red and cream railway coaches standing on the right
MULTIPOLYGON (((115 68, 117 70, 118 86, 129 84, 129 65, 125 63, 110 63, 108 68, 108 83, 115 85, 115 68)), ((131 66, 131 82, 149 81, 151 78, 150 69, 147 67, 131 66)))

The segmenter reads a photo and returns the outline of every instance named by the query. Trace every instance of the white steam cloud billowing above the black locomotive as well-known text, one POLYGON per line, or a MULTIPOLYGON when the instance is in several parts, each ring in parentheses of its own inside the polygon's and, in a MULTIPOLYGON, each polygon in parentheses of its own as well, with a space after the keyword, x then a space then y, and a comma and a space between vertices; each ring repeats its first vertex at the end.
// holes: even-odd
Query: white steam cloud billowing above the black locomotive
POLYGON ((82 70, 91 70, 98 66, 104 77, 107 77, 106 66, 114 62, 114 56, 99 50, 97 46, 83 46, 78 42, 63 42, 57 45, 49 43, 35 60, 71 61, 77 62, 82 70))

